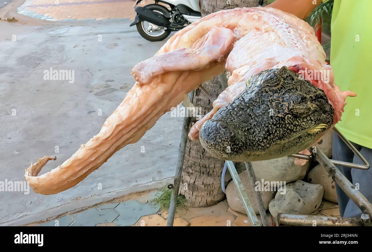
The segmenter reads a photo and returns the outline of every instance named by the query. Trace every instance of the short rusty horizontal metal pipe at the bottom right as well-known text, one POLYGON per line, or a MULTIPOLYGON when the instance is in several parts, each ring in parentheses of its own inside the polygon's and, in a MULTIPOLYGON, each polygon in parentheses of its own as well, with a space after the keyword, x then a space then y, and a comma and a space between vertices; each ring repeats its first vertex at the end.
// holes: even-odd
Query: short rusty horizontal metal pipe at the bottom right
POLYGON ((278 213, 278 223, 286 226, 363 226, 360 218, 290 215, 286 213, 278 213))

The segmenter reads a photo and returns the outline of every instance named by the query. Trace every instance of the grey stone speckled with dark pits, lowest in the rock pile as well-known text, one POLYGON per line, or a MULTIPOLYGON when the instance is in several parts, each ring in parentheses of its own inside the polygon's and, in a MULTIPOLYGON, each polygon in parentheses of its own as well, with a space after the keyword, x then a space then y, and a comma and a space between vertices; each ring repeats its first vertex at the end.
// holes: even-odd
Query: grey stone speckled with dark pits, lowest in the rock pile
POLYGON ((277 192, 269 204, 275 219, 278 213, 308 215, 318 209, 323 198, 323 186, 302 180, 286 184, 285 193, 277 192))

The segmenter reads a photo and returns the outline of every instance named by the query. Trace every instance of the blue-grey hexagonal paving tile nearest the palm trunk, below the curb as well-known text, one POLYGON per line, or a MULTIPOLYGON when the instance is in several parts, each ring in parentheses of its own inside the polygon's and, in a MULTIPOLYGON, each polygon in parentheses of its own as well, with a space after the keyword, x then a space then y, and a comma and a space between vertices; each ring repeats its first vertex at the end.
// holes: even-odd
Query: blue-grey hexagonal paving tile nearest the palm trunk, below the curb
POLYGON ((141 216, 156 213, 159 209, 160 206, 157 204, 141 204, 136 200, 128 200, 115 207, 116 212, 120 215, 113 221, 113 223, 115 223, 116 226, 134 225, 141 216))

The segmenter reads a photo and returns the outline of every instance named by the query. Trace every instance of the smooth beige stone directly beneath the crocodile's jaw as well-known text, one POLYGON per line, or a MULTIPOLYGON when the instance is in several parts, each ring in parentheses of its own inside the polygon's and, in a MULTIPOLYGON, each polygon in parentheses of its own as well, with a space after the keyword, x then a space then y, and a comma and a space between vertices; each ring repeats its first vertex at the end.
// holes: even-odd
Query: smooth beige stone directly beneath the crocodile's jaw
POLYGON ((296 165, 295 158, 281 157, 252 162, 256 179, 264 181, 285 181, 289 183, 303 179, 310 168, 310 162, 303 166, 296 165))

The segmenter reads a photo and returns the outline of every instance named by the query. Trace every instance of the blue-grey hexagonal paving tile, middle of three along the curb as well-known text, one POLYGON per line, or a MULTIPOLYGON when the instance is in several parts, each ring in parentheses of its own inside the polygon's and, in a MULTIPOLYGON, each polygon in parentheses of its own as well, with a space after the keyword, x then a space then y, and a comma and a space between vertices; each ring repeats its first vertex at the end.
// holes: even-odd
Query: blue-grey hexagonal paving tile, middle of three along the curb
POLYGON ((96 226, 99 223, 112 222, 118 217, 114 209, 97 210, 92 207, 83 212, 73 214, 75 222, 71 226, 96 226))

